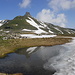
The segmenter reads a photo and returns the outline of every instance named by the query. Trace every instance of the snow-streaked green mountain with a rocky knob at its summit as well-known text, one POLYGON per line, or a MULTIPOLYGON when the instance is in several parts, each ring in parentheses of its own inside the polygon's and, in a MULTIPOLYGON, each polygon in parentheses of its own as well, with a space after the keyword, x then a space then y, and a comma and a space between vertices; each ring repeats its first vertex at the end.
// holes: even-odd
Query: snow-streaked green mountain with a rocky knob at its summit
POLYGON ((75 35, 75 29, 63 28, 37 20, 29 12, 13 20, 0 20, 0 31, 8 33, 75 35))

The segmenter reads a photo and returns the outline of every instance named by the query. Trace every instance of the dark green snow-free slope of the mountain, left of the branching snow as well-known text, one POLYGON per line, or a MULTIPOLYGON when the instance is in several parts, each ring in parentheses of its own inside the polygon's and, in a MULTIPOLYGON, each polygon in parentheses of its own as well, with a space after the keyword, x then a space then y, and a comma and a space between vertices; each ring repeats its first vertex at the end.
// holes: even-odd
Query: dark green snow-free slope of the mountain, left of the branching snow
POLYGON ((5 23, 3 26, 1 26, 1 29, 16 31, 25 28, 25 29, 37 30, 37 28, 27 23, 26 19, 28 19, 26 16, 17 16, 13 20, 10 20, 8 23, 5 23))

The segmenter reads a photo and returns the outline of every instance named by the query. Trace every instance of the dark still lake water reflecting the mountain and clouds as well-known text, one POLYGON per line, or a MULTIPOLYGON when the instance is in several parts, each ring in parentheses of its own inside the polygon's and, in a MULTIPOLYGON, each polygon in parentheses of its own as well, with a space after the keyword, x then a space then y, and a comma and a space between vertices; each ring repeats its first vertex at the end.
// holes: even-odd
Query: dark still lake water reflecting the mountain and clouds
POLYGON ((61 45, 30 47, 17 50, 0 59, 0 73, 23 73, 24 75, 52 75, 56 70, 46 64, 48 60, 66 50, 61 45))

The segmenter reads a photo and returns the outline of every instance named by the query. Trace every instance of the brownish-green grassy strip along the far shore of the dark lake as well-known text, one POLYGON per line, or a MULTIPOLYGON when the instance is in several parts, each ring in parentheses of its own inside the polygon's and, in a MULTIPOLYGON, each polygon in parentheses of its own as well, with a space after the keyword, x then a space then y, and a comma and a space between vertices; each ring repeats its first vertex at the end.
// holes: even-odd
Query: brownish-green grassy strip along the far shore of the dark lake
POLYGON ((33 46, 53 46, 70 42, 71 38, 28 38, 28 39, 8 39, 2 40, 0 38, 0 57, 6 54, 15 52, 15 50, 24 47, 33 46))

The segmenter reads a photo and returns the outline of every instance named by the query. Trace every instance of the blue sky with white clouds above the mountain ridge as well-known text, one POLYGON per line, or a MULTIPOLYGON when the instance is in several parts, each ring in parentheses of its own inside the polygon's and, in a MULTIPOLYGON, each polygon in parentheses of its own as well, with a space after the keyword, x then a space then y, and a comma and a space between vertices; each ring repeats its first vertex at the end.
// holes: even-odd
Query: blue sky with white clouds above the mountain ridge
POLYGON ((0 0, 0 20, 26 12, 40 21, 75 29, 75 0, 0 0))

